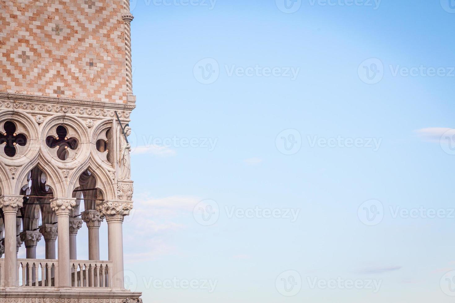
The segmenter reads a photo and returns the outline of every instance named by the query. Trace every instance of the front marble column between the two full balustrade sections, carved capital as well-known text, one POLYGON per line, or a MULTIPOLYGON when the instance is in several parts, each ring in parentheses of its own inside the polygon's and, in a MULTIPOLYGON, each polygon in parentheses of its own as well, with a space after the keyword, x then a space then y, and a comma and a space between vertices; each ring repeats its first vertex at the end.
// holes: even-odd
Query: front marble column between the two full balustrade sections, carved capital
MULTIPOLYGON (((58 286, 71 287, 70 267, 70 213, 76 198, 54 198, 51 208, 57 215, 58 228, 58 286)), ((57 284, 56 284, 57 285, 57 284)))

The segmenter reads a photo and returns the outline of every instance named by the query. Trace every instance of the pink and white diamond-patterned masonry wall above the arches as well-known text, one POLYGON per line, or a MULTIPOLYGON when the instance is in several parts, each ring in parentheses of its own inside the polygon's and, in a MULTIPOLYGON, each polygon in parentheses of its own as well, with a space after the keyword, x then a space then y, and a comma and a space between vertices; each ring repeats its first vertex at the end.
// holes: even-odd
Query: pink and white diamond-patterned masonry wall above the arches
POLYGON ((126 103, 123 0, 1 0, 0 92, 126 103))

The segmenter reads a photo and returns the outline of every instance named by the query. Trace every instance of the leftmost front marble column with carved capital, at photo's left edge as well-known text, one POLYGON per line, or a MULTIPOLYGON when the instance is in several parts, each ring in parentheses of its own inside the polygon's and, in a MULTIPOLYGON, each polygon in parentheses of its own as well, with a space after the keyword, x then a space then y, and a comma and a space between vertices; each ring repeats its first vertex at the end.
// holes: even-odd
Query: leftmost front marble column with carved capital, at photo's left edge
POLYGON ((18 286, 16 217, 23 202, 22 196, 0 196, 5 223, 5 286, 18 286))

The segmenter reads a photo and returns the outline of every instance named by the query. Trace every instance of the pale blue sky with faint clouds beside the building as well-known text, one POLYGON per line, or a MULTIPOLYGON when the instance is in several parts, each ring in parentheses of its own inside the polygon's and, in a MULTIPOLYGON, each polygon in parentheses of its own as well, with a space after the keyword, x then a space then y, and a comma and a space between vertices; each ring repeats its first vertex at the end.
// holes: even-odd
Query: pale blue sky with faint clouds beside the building
POLYGON ((283 1, 131 2, 129 287, 144 302, 452 302, 455 3, 283 1), (172 279, 197 289, 159 286, 172 279), (324 288, 337 279, 363 286, 324 288))

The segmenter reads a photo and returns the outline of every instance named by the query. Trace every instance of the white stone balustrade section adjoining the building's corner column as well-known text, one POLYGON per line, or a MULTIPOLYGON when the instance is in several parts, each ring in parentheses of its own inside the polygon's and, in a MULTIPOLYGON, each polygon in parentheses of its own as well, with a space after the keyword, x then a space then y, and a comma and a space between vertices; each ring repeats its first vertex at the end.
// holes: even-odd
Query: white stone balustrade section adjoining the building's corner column
POLYGON ((71 260, 72 287, 112 287, 112 261, 71 260))

